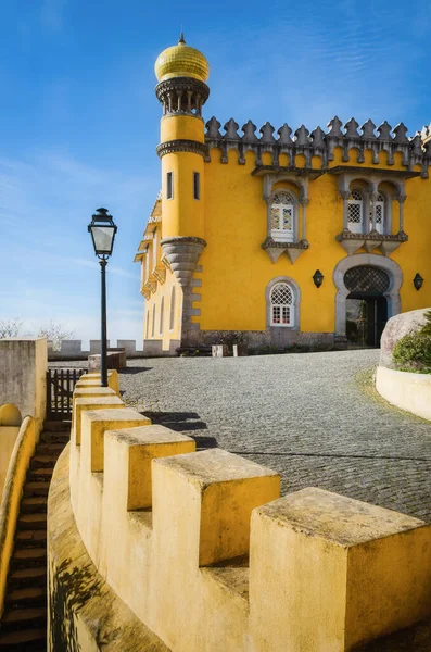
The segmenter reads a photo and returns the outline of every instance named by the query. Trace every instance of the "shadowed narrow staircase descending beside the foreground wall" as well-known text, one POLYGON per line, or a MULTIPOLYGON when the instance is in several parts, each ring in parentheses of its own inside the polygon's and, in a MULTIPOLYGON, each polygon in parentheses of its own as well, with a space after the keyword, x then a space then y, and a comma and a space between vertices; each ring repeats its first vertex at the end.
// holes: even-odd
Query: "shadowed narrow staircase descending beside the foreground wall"
POLYGON ((47 501, 68 422, 46 422, 27 472, 8 575, 0 651, 47 652, 47 501))

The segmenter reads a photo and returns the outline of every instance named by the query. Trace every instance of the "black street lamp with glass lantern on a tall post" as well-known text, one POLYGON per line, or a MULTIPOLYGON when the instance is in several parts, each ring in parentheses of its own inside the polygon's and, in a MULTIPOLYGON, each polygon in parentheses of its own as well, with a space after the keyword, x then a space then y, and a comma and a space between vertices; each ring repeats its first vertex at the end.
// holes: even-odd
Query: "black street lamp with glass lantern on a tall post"
POLYGON ((100 259, 102 272, 102 337, 100 351, 100 385, 107 387, 107 347, 106 347, 106 265, 112 254, 117 227, 107 209, 98 209, 88 225, 96 255, 100 259))

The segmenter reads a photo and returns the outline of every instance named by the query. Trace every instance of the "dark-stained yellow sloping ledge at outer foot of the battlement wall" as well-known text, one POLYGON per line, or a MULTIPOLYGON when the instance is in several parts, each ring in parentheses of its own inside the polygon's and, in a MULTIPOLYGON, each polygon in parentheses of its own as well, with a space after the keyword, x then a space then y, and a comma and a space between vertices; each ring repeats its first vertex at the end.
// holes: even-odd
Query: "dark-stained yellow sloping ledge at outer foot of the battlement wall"
POLYGON ((69 446, 48 498, 48 651, 170 652, 107 586, 76 528, 68 484, 69 446))

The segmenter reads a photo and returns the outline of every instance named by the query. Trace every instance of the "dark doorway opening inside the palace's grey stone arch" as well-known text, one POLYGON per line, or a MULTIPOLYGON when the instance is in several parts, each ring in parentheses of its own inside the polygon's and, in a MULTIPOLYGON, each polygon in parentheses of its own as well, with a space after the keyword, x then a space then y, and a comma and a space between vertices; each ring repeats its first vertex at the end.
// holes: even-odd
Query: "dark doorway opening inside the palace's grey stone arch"
POLYGON ((359 347, 380 347, 388 322, 384 296, 390 286, 388 274, 378 267, 360 265, 345 273, 344 284, 351 290, 346 301, 347 340, 359 347))

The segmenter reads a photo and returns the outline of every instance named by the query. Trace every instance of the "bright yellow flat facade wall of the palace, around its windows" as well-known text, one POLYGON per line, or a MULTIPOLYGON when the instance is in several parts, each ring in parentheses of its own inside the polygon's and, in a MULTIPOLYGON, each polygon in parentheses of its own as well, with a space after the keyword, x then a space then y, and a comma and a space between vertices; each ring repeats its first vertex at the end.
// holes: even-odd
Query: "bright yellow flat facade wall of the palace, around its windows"
MULTIPOLYGON (((337 288, 332 274, 346 255, 335 240, 343 228, 343 201, 338 191, 338 177, 324 174, 309 181, 307 239, 310 248, 293 265, 286 254, 272 264, 261 248, 267 236, 267 213, 263 181, 251 176, 256 165, 254 153, 246 153, 245 165, 238 164, 237 151, 229 152, 228 164, 220 163, 220 155, 219 150, 211 150, 211 163, 205 165, 204 238, 207 247, 200 261, 203 266, 201 317, 193 321, 199 322, 203 330, 263 330, 267 310, 265 288, 272 278, 288 276, 301 288, 301 330, 333 331, 337 288), (312 279, 317 268, 325 275, 319 289, 312 279)), ((331 166, 340 165, 341 156, 342 152, 337 148, 331 166)), ((299 159, 296 156, 296 164, 304 163, 299 159)), ((270 163, 270 154, 263 162, 270 163)), ((358 165, 356 155, 343 165, 358 165)), ((370 151, 366 151, 364 165, 371 165, 370 151)), ((395 159, 395 165, 379 167, 382 166, 404 170, 400 158, 395 159)), ((409 241, 391 255, 405 275, 401 288, 403 311, 431 304, 431 228, 427 217, 430 181, 419 177, 409 179, 406 193, 404 228, 409 241), (430 279, 420 292, 413 285, 416 272, 430 279)), ((394 201, 394 226, 397 225, 397 206, 394 201)), ((373 253, 379 252, 375 250, 373 253)))

